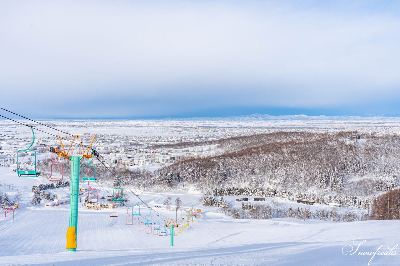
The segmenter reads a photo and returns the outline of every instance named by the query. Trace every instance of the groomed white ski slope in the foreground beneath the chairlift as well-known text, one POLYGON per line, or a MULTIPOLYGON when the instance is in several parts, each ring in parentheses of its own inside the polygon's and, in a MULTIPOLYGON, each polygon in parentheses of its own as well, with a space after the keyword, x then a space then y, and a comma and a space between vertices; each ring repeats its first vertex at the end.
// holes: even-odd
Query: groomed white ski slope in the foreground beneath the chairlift
MULTIPOLYGON (((138 231, 137 220, 127 226, 126 207, 119 208, 118 217, 110 217, 107 210, 86 210, 81 206, 78 251, 67 252, 69 205, 55 208, 38 205, 30 211, 30 187, 45 180, 17 177, 9 168, 0 169, 0 183, 12 183, 23 193, 14 220, 11 213, 0 217, 2 266, 398 265, 400 260, 398 220, 346 223, 294 218, 235 220, 218 213, 216 208, 200 206, 201 194, 196 191, 137 191, 142 200, 150 206, 160 206, 155 209, 170 218, 180 213, 165 209, 162 202, 167 196, 173 201, 180 197, 183 206, 193 204, 201 208, 202 217, 175 236, 173 247, 170 236, 138 231), (357 252, 350 255, 359 243, 362 244, 357 252), (394 248, 392 255, 388 248, 394 248), (386 255, 373 257, 377 249, 386 255), (358 255, 359 252, 371 254, 358 255)), ((230 197, 227 200, 234 201, 230 197)), ((148 210, 142 207, 142 214, 147 214, 148 210)))

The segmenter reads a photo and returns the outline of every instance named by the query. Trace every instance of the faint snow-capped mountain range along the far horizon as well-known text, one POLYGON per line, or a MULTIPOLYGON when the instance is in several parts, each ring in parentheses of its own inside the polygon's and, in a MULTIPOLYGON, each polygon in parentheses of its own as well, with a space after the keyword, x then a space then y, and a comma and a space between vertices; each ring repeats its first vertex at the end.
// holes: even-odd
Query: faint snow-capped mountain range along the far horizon
POLYGON ((166 117, 155 120, 167 120, 167 121, 299 121, 299 120, 325 120, 325 121, 347 121, 347 120, 364 120, 364 121, 388 121, 396 120, 400 121, 400 117, 386 117, 375 114, 358 114, 358 115, 342 115, 342 116, 326 116, 326 115, 260 115, 258 113, 252 115, 239 115, 239 116, 228 116, 228 117, 186 117, 186 118, 172 118, 166 117))

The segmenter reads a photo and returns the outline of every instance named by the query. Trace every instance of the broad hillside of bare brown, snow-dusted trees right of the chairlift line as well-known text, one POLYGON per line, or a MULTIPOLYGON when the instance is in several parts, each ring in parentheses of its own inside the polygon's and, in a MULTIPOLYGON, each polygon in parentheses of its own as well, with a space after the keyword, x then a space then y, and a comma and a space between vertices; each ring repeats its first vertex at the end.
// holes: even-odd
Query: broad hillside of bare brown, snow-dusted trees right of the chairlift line
POLYGON ((245 189, 317 202, 342 197, 337 201, 361 205, 360 199, 398 186, 397 135, 279 132, 224 139, 218 146, 226 153, 179 161, 155 172, 154 181, 216 195, 245 189))

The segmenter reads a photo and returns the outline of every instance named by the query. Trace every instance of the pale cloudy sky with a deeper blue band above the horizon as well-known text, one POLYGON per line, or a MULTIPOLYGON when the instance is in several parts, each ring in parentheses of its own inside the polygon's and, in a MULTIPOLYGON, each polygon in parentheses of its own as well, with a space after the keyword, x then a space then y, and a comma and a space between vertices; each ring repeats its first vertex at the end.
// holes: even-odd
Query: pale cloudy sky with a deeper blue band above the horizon
POLYGON ((398 1, 0 0, 0 107, 400 116, 399 28, 398 1))

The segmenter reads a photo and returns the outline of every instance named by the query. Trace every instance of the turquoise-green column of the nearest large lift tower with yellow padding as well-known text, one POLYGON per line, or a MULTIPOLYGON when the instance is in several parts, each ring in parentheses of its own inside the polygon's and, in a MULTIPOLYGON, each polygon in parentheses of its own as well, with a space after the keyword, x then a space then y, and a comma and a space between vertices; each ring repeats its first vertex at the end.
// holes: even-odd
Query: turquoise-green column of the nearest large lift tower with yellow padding
MULTIPOLYGON (((75 227, 75 237, 78 235, 78 196, 79 196, 79 169, 83 156, 73 155, 71 158, 71 197, 70 197, 70 223, 69 227, 75 227)), ((75 239, 76 239, 75 238, 75 239)), ((68 248, 68 251, 76 251, 76 248, 68 248)))

